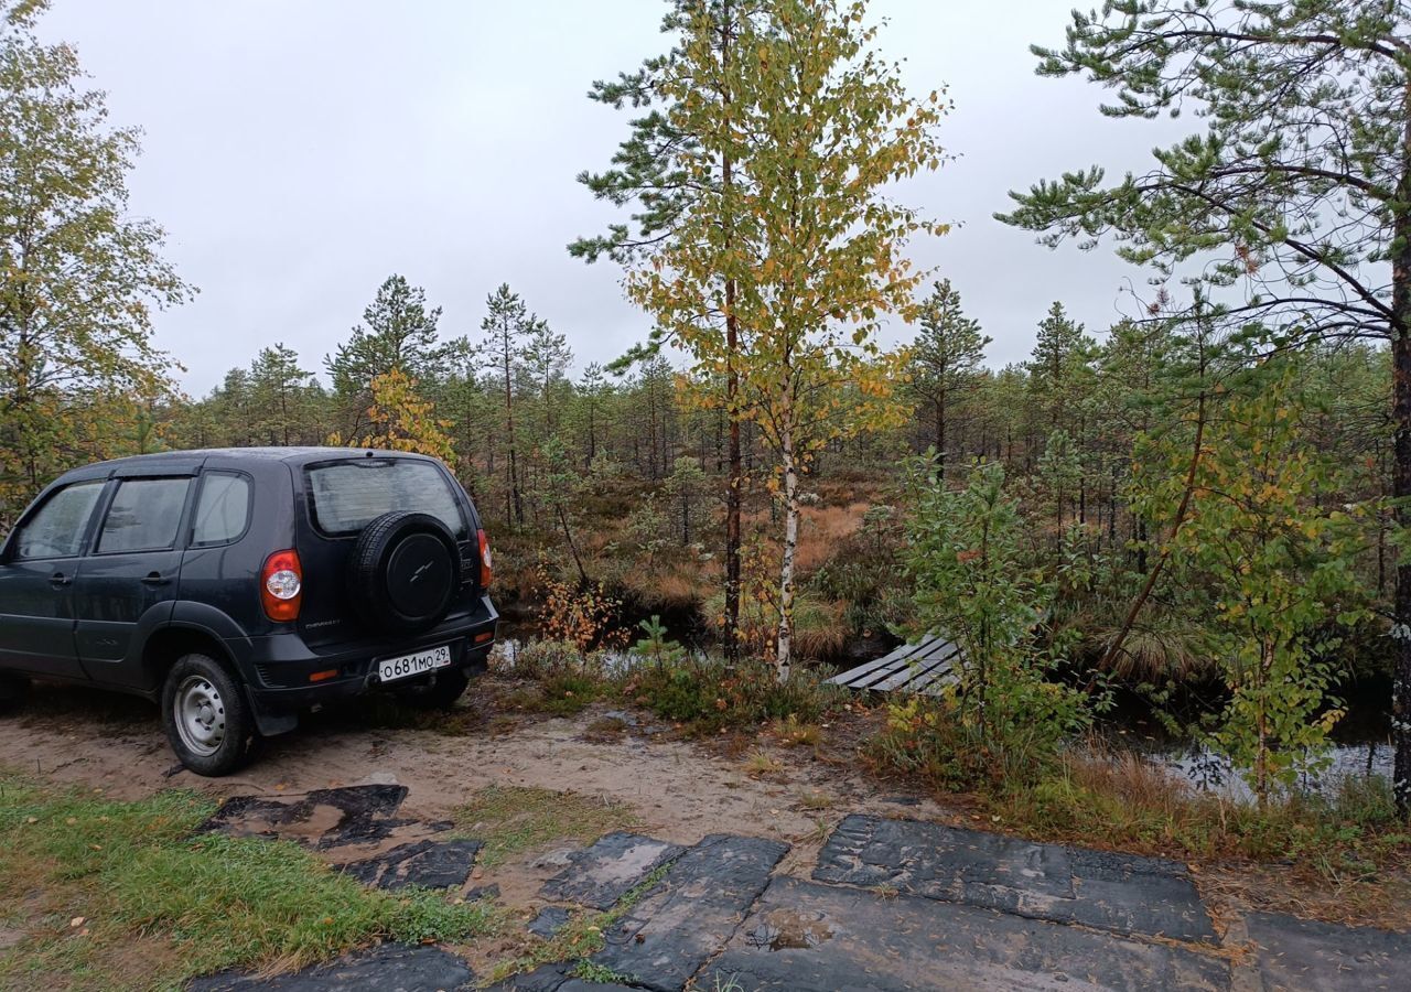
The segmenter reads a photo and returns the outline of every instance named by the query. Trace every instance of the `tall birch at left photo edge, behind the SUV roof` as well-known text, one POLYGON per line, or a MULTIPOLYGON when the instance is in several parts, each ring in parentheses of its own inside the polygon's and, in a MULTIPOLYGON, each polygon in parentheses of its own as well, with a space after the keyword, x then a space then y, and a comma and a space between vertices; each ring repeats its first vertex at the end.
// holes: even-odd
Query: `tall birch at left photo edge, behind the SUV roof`
POLYGON ((152 313, 192 294, 128 206, 138 133, 35 34, 47 7, 0 0, 0 529, 61 471, 152 443, 175 371, 152 313))

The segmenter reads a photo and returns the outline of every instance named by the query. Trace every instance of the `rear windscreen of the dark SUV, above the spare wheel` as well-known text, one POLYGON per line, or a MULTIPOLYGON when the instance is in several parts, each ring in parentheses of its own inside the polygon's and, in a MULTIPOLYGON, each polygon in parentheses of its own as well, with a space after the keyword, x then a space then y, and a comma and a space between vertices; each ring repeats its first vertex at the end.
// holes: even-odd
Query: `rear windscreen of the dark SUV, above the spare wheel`
POLYGON ((394 509, 430 514, 456 536, 466 519, 444 473, 430 461, 357 459, 309 466, 313 525, 329 535, 357 533, 394 509))

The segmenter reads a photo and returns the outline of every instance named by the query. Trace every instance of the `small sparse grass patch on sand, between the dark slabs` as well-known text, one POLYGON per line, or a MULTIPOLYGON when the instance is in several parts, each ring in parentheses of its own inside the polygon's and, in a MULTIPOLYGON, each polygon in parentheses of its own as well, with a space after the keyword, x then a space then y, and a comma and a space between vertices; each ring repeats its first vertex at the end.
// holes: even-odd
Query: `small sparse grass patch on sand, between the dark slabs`
POLYGON ((484 842, 480 864, 485 866, 559 840, 591 844, 638 824, 622 803, 525 786, 487 786, 453 816, 461 833, 484 842))

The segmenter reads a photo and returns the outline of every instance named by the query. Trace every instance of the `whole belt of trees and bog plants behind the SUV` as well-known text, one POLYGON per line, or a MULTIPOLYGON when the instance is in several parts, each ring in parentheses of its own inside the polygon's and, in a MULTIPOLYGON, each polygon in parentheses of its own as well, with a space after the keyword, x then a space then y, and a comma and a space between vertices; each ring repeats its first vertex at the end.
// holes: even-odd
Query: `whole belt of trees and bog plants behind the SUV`
POLYGON ((580 181, 621 220, 567 246, 621 271, 649 340, 580 364, 509 285, 447 327, 389 274, 329 354, 271 343, 200 398, 151 343, 192 289, 126 207, 137 137, 34 37, 42 7, 0 0, 6 528, 99 457, 416 450, 476 497, 501 608, 553 642, 522 655, 547 697, 591 696, 593 652, 636 642, 625 693, 669 720, 810 721, 820 666, 937 631, 967 665, 893 703, 888 766, 1054 809, 1072 792, 1044 776, 1136 694, 1263 807, 1326 761, 1350 686, 1388 684, 1373 793, 1411 804, 1404 4, 1074 16, 1040 72, 1106 87, 1115 117, 1194 111, 1189 137, 1143 175, 1040 181, 999 220, 1110 243, 1149 291, 1108 327, 1062 301, 981 327, 907 254, 962 237, 904 195, 943 167, 951 106, 906 92, 866 4, 673 0, 663 52, 593 87, 622 144, 580 181), (986 361, 1026 333, 1027 361, 986 361))

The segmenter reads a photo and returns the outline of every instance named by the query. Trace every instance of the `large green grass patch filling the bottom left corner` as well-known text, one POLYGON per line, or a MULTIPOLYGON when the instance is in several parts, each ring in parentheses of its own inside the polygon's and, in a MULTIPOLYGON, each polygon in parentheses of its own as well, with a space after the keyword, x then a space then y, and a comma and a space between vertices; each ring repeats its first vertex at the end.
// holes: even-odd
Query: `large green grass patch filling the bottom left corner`
POLYGON ((175 989, 499 926, 485 903, 370 890, 291 842, 193 835, 214 809, 188 792, 120 803, 0 778, 0 905, 25 933, 0 957, 0 986, 175 989))

